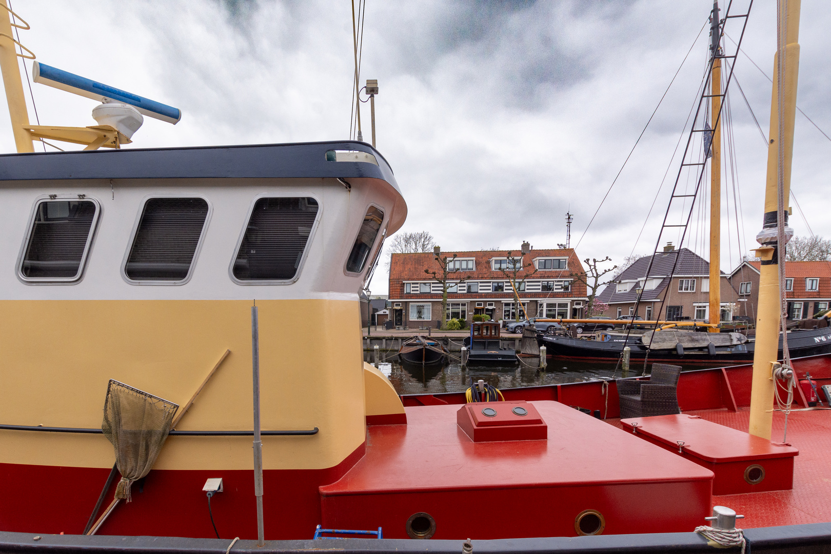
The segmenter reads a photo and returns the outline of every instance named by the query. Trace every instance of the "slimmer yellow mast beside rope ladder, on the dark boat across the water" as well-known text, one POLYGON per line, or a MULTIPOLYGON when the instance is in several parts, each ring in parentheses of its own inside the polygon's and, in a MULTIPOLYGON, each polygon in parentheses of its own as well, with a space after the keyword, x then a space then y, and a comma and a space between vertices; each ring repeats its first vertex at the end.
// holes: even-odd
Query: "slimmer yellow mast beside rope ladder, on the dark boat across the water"
MULTIPOLYGON (((710 27, 712 55, 719 56, 719 2, 713 2, 713 19, 710 27)), ((710 323, 718 325, 721 321, 721 60, 713 60, 711 78, 711 126, 712 140, 710 160, 710 323)), ((719 332, 718 327, 709 327, 708 331, 719 332)))

